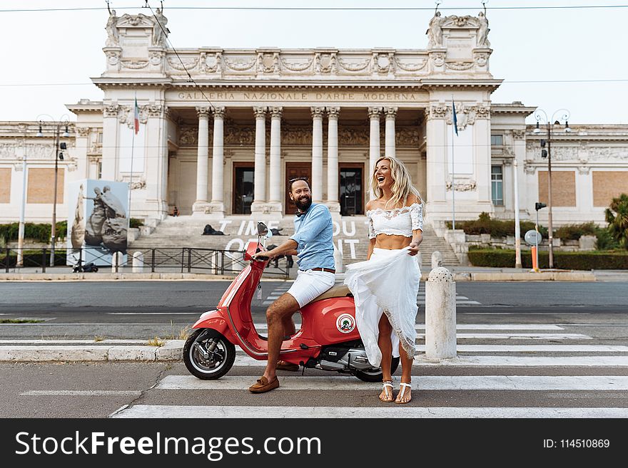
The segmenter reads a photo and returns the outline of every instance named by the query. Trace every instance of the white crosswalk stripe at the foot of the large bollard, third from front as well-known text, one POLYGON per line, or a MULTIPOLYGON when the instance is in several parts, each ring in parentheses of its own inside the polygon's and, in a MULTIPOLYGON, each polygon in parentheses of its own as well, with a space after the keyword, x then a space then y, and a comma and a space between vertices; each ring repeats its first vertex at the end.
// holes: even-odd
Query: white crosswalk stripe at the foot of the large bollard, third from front
MULTIPOLYGON (((236 367, 264 367, 265 360, 256 360, 248 355, 238 355, 236 367)), ((625 356, 509 356, 509 355, 457 355, 456 358, 427 360, 425 355, 415 356, 415 367, 628 367, 625 356)))

